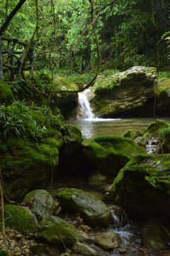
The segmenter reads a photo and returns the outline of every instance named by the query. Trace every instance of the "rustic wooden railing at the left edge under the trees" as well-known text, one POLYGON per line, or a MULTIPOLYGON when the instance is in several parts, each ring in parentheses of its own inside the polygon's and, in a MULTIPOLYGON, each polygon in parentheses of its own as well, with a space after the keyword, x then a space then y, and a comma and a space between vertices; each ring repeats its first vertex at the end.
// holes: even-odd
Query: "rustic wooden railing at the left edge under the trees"
POLYGON ((0 80, 6 70, 11 72, 11 81, 18 79, 21 70, 32 70, 33 73, 33 44, 28 50, 28 41, 21 42, 16 38, 0 37, 0 80), (26 65, 23 66, 27 54, 26 65))

